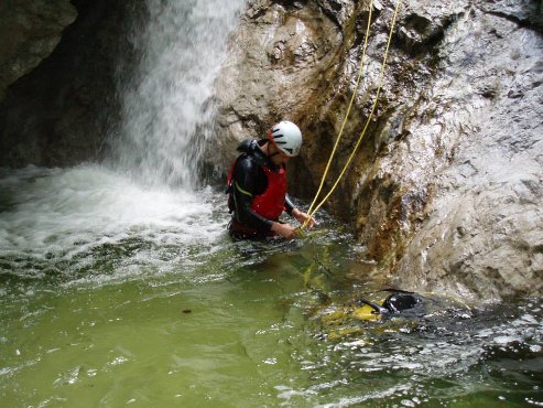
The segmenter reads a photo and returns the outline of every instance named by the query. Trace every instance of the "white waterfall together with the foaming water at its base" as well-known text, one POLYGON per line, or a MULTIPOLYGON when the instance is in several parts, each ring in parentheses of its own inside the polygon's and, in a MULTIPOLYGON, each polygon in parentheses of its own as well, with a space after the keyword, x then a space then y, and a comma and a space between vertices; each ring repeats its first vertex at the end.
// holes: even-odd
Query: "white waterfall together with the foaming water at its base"
POLYGON ((145 2, 145 28, 130 33, 140 64, 120 84, 122 132, 110 160, 0 172, 0 273, 84 275, 133 241, 140 254, 150 248, 148 264, 178 265, 178 254, 224 234, 224 196, 198 186, 197 173, 213 127, 207 101, 243 3, 145 2), (156 250, 170 246, 172 256, 156 250))

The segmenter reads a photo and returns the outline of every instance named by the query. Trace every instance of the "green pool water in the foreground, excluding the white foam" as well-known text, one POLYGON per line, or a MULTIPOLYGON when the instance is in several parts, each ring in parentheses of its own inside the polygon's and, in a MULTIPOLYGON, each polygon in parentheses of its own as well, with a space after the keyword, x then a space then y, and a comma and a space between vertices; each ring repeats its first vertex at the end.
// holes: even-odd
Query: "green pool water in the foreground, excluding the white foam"
POLYGON ((542 404, 541 304, 455 309, 415 330, 371 323, 329 340, 307 282, 345 294, 356 259, 345 239, 259 245, 225 236, 167 273, 4 278, 1 406, 542 404))

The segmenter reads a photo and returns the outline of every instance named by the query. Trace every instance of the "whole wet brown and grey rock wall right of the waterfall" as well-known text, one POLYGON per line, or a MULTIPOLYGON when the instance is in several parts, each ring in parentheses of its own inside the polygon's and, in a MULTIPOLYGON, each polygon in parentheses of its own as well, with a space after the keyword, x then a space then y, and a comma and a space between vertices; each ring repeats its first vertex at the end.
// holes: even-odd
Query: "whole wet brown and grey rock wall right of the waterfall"
MULTIPOLYGON (((370 114, 395 3, 374 1, 361 86, 327 192, 370 114)), ((543 39, 536 1, 404 2, 366 138, 327 208, 391 283, 496 300, 543 288, 543 39)), ((312 197, 339 132, 369 1, 252 1, 218 80, 237 140, 298 122, 312 197)))

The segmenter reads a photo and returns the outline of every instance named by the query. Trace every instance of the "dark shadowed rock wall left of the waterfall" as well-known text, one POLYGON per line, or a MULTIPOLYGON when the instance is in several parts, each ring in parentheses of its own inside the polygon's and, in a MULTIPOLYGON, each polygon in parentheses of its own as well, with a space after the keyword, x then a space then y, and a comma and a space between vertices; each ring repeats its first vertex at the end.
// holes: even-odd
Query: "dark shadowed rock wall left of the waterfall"
POLYGON ((0 8, 0 167, 97 158, 117 110, 128 7, 21 0, 0 8))

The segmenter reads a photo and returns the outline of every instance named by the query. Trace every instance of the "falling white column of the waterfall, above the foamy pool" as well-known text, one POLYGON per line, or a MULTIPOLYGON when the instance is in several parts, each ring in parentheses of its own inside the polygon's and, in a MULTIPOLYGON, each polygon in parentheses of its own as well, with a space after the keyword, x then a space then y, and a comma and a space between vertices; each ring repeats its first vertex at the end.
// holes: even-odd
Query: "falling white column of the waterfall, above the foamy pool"
POLYGON ((123 79, 113 167, 146 185, 194 189, 213 133, 214 78, 245 0, 145 0, 130 33, 138 64, 123 79))

